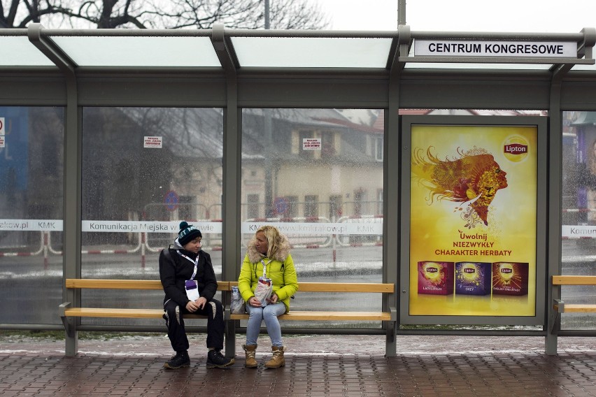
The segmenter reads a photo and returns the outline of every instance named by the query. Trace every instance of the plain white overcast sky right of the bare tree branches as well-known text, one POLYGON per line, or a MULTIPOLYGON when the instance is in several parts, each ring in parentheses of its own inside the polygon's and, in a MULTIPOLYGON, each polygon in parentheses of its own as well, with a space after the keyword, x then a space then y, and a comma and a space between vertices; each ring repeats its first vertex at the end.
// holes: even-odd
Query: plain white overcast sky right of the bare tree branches
MULTIPOLYGON (((333 30, 395 30, 398 0, 316 0, 333 30)), ((414 31, 575 33, 596 27, 596 0, 408 0, 414 31)))

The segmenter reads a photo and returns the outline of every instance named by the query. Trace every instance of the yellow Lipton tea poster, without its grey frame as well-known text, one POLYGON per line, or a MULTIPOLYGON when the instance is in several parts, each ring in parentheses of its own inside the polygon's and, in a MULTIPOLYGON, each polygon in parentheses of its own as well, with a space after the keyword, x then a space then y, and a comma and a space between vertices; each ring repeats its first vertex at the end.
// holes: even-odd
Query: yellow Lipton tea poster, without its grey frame
POLYGON ((537 127, 411 127, 410 315, 536 314, 537 127))

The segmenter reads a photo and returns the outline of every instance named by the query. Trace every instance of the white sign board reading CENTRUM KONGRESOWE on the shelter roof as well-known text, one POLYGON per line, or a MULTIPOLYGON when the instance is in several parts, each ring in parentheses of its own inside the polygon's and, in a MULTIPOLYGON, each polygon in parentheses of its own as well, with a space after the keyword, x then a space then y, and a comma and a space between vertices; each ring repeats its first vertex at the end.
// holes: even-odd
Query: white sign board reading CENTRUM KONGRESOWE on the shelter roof
POLYGON ((577 58, 577 43, 567 41, 416 40, 414 56, 577 58))

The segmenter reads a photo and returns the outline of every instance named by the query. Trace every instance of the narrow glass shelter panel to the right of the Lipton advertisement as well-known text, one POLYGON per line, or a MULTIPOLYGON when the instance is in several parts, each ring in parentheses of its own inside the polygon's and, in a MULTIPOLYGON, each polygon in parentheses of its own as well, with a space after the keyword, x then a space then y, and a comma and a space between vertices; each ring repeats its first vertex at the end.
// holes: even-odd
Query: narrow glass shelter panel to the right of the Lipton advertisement
MULTIPOLYGON (((596 275, 596 112, 563 112, 561 274, 596 275)), ((596 303, 596 286, 562 286, 565 303, 596 303)), ((596 329, 594 316, 562 313, 561 329, 596 329)))

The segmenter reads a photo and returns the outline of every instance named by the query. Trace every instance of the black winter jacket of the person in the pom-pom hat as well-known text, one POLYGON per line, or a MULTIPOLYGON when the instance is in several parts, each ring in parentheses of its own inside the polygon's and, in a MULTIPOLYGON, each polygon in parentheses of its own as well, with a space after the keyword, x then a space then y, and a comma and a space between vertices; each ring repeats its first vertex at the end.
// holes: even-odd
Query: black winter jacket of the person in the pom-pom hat
POLYGON ((159 254, 159 279, 162 280, 162 286, 166 293, 164 304, 172 299, 184 308, 189 302, 186 296, 185 281, 190 280, 190 276, 192 276, 194 260, 197 258, 197 255, 199 255, 199 264, 194 280, 197 280, 197 284, 199 285, 199 294, 204 296, 207 301, 211 301, 213 296, 215 296, 215 292, 218 290, 218 280, 215 278, 211 256, 202 250, 198 254, 194 254, 193 252, 179 249, 182 254, 193 260, 191 262, 185 257, 180 256, 176 251, 178 250, 170 246, 162 250, 159 254))

